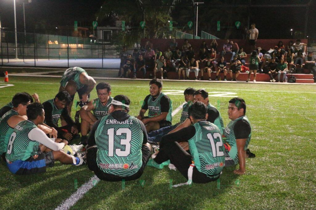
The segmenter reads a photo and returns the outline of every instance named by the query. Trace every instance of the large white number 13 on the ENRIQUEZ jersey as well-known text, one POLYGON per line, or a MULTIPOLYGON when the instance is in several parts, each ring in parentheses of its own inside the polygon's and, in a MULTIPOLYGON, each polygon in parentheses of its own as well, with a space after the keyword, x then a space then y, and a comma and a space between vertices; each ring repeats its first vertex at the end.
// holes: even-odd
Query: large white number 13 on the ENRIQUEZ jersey
MULTIPOLYGON (((121 145, 125 145, 125 150, 115 149, 115 154, 119 157, 127 157, 131 153, 131 139, 132 139, 132 131, 129 128, 119 128, 116 131, 116 135, 120 136, 123 133, 126 133, 126 138, 120 140, 121 145)), ((110 128, 107 130, 107 135, 109 136, 109 148, 108 148, 108 156, 113 157, 114 155, 114 128, 110 128)))

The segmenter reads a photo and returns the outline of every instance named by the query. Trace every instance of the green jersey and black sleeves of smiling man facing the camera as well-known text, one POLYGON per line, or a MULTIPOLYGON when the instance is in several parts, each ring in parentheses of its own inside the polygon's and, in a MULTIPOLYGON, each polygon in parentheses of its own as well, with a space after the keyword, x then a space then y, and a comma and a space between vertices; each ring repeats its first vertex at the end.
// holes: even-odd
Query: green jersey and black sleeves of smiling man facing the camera
POLYGON ((151 95, 146 96, 142 109, 149 109, 148 117, 155 117, 160 115, 162 112, 168 112, 166 120, 172 122, 172 102, 163 92, 161 92, 156 98, 151 95))

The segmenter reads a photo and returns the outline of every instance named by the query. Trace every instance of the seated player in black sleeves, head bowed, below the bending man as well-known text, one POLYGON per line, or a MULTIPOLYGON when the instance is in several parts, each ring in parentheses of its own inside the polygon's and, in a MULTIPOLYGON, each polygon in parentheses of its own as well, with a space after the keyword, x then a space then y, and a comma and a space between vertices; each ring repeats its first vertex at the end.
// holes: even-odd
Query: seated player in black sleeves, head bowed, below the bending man
POLYGON ((70 103, 71 97, 67 91, 59 92, 55 98, 43 103, 45 111, 45 123, 58 131, 57 138, 71 141, 73 136, 78 134, 78 128, 71 119, 67 105, 70 103), (67 125, 58 126, 58 120, 62 117, 67 125))

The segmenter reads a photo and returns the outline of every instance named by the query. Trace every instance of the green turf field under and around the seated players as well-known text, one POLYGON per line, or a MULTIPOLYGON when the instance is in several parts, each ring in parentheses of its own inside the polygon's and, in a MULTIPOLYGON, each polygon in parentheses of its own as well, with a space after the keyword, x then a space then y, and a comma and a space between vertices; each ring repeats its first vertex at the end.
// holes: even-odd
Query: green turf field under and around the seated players
MULTIPOLYGON (((38 93, 41 102, 51 99, 58 91, 59 80, 11 76, 9 84, 14 86, 0 88, 0 106, 21 91, 38 93)), ((112 85, 112 96, 130 97, 130 114, 137 115, 141 101, 149 94, 149 81, 107 82, 112 85)), ((217 182, 169 189, 170 179, 178 184, 185 178, 167 167, 146 167, 140 178, 145 180, 143 187, 139 180, 126 182, 124 190, 120 182, 100 181, 72 209, 316 208, 316 86, 166 81, 163 91, 169 92, 173 109, 184 102, 183 90, 187 87, 213 92, 209 93, 210 103, 219 105, 225 126, 229 122, 228 100, 233 96, 245 99, 246 115, 252 124, 249 149, 256 154, 256 158, 246 159, 246 175, 237 176, 234 168, 225 168, 220 189, 217 182), (229 97, 212 96, 225 92, 230 92, 229 97)), ((96 97, 93 90, 91 98, 96 97)), ((180 113, 181 110, 173 117, 173 123, 179 121, 180 113)), ((2 159, 0 169, 0 209, 54 209, 76 192, 75 179, 79 188, 94 176, 86 166, 58 162, 44 174, 23 177, 12 175, 2 159)))

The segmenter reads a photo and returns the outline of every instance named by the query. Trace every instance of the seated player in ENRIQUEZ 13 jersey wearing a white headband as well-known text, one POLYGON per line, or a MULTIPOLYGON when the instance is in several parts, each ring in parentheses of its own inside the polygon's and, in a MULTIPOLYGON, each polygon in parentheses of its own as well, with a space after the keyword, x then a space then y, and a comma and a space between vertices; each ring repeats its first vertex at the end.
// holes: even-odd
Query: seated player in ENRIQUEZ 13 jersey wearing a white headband
POLYGON ((110 114, 96 121, 89 134, 87 164, 102 180, 137 179, 149 160, 146 128, 128 114, 130 103, 127 96, 115 96, 110 114))

